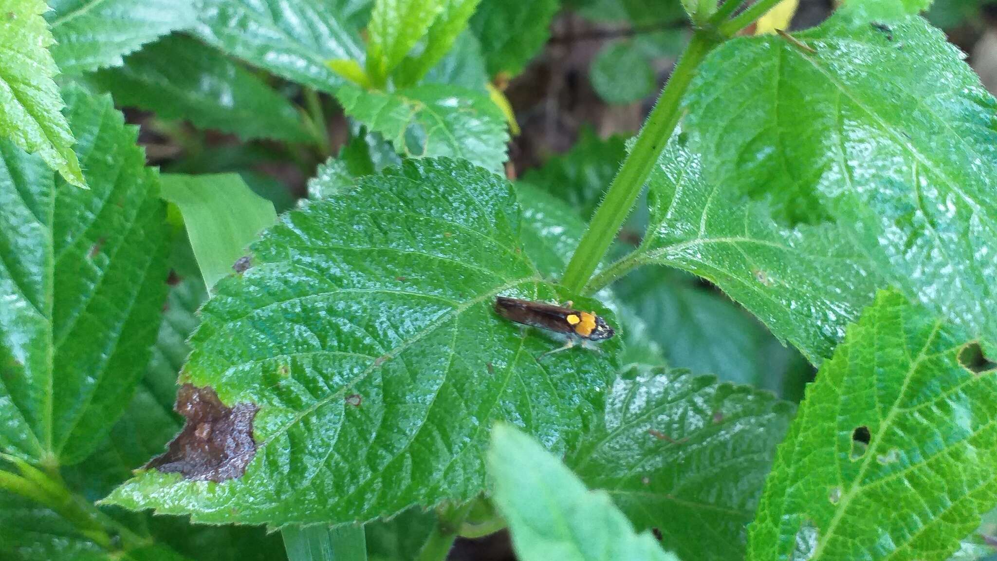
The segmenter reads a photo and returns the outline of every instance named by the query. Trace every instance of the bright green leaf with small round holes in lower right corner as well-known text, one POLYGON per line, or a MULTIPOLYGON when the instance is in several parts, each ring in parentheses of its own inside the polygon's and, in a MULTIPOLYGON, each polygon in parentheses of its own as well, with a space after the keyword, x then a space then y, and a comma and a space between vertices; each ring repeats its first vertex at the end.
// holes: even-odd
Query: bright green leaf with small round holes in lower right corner
POLYGON ((997 377, 960 363, 960 331, 878 294, 807 388, 749 559, 934 561, 959 547, 997 503, 997 377))

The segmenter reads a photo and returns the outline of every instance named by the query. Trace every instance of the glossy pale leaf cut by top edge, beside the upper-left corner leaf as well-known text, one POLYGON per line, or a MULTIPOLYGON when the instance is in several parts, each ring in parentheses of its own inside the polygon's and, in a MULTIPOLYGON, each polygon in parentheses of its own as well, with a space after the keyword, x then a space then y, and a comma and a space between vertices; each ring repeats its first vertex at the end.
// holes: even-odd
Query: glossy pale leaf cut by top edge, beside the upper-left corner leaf
POLYGON ((194 0, 49 0, 52 56, 68 74, 121 66, 146 43, 190 27, 194 0))

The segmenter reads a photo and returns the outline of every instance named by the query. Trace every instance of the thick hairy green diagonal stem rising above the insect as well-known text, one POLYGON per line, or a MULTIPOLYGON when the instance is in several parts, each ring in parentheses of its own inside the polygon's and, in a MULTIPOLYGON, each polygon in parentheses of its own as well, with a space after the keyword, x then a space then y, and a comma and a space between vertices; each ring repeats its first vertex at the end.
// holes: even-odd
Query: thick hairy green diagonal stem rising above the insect
POLYGON ((578 249, 571 256, 571 262, 561 280, 569 290, 580 292, 602 261, 678 124, 681 117, 679 103, 696 75, 696 69, 720 40, 709 29, 700 29, 693 34, 689 47, 672 71, 672 76, 662 90, 654 111, 647 118, 633 150, 613 178, 606 197, 595 211, 578 249))

